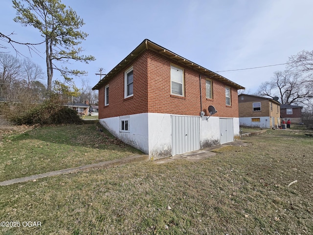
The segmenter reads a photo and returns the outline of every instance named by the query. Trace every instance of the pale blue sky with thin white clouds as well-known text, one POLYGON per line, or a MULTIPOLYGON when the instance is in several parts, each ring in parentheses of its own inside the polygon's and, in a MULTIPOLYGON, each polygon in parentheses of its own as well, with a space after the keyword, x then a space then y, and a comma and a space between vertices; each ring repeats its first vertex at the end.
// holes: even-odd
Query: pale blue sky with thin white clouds
MULTIPOLYGON (((228 78, 253 94, 275 71, 283 71, 291 55, 313 50, 313 0, 61 0, 84 20, 82 42, 89 64, 72 61, 84 70, 90 87, 111 71, 144 39, 165 47, 210 71, 228 78), (264 67, 249 69, 255 67, 264 67), (229 71, 237 70, 237 71, 229 71)), ((13 40, 37 43, 39 31, 15 23, 11 0, 0 2, 0 32, 13 40)), ((17 47, 45 67, 45 48, 39 55, 17 47)), ((3 51, 3 50, 2 50, 3 51)), ((12 48, 5 52, 16 55, 12 48)), ((53 79, 62 77, 57 72, 53 79)), ((80 87, 82 79, 74 79, 80 87)), ((44 80, 43 83, 46 83, 44 80)))

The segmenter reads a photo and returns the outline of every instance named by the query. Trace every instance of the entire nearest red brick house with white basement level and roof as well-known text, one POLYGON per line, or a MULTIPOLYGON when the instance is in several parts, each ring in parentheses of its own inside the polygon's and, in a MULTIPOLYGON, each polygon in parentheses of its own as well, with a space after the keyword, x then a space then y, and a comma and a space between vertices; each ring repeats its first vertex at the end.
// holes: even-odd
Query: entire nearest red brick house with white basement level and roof
POLYGON ((147 39, 92 89, 99 90, 99 122, 150 158, 240 134, 237 90, 244 87, 147 39))

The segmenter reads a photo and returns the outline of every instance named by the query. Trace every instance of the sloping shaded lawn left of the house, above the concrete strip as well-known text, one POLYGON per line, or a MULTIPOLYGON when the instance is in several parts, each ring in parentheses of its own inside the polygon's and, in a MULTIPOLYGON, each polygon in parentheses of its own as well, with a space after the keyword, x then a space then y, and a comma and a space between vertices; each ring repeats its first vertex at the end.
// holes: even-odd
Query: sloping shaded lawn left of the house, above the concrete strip
POLYGON ((99 124, 47 126, 0 136, 0 181, 142 154, 99 124), (2 140, 1 140, 2 137, 2 140))

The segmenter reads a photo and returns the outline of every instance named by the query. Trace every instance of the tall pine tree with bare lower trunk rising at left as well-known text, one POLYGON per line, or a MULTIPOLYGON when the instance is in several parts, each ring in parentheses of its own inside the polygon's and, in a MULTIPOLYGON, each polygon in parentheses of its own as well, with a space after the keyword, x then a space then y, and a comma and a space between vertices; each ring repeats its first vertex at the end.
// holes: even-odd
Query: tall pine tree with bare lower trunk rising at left
POLYGON ((91 55, 81 55, 83 48, 79 44, 88 34, 79 30, 84 21, 75 11, 60 0, 13 0, 13 7, 18 14, 14 21, 37 28, 44 38, 48 92, 51 91, 54 70, 60 71, 66 81, 72 79, 71 75, 86 73, 58 67, 55 63, 69 60, 88 63, 95 60, 91 55))

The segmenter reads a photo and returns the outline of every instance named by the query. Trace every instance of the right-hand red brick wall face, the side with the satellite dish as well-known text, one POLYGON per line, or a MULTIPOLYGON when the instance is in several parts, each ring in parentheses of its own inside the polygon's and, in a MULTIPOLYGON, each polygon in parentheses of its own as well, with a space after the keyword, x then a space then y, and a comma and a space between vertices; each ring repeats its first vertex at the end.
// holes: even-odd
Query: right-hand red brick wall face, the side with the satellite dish
MULTIPOLYGON (((169 58, 159 56, 156 52, 148 56, 148 112, 177 115, 199 116, 201 112, 199 72, 172 62, 169 58), (184 97, 171 95, 171 64, 184 70, 184 97)), ((216 116, 238 117, 238 94, 231 88, 231 106, 226 106, 225 84, 213 80, 213 99, 206 99, 205 80, 201 75, 202 111, 208 115, 207 108, 213 105, 216 116)))

